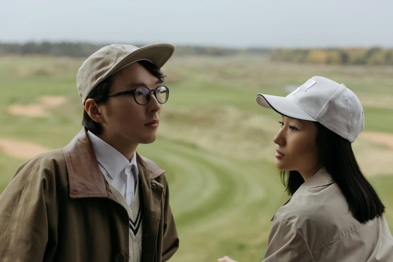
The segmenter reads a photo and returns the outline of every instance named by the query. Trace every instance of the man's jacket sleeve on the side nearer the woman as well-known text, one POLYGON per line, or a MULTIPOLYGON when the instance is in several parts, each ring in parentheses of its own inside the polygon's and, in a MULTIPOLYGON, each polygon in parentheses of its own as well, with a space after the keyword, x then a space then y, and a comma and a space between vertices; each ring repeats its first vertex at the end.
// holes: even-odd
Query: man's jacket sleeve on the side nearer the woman
POLYGON ((162 221, 164 223, 164 237, 163 237, 163 252, 162 261, 167 261, 179 248, 179 237, 176 230, 175 220, 173 219, 173 214, 171 206, 169 205, 169 188, 168 183, 165 179, 166 190, 165 190, 165 206, 164 206, 164 216, 162 221))

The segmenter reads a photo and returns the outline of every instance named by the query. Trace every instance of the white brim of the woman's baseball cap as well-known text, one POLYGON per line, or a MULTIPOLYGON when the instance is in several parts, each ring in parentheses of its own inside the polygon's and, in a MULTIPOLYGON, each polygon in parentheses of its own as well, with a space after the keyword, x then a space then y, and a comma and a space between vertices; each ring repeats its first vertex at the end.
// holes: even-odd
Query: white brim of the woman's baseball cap
POLYGON ((255 99, 260 106, 273 109, 284 116, 298 120, 317 122, 317 120, 287 97, 257 94, 255 99))

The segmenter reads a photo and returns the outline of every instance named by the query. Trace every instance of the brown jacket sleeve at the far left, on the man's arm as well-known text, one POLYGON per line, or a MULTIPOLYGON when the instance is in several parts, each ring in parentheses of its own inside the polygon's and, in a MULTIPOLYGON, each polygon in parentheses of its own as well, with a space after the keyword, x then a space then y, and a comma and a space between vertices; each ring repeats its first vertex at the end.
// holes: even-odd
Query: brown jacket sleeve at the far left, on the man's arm
POLYGON ((58 214, 53 173, 51 163, 30 160, 0 195, 0 261, 50 260, 58 214))

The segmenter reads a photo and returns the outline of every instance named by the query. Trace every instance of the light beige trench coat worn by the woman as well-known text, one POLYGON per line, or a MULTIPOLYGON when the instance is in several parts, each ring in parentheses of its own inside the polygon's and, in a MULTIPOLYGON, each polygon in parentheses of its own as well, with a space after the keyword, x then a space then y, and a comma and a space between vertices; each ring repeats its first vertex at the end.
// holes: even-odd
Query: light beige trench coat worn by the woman
POLYGON ((393 237, 385 217, 359 223, 337 184, 322 169, 272 220, 266 262, 393 261, 393 237))

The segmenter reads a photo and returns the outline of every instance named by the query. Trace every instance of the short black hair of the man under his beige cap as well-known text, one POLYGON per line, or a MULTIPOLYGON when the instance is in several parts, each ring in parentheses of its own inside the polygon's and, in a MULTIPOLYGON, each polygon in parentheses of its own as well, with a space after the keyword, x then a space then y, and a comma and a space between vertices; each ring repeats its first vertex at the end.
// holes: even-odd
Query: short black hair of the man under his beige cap
MULTIPOLYGON (((146 70, 148 70, 153 76, 157 77, 162 83, 164 82, 165 75, 161 72, 158 66, 147 60, 140 60, 138 61, 138 63, 142 65, 146 70)), ((113 75, 110 75, 105 80, 99 82, 98 85, 90 91, 86 100, 92 98, 97 104, 105 104, 108 100, 107 95, 109 94, 112 83, 113 75)), ((102 134, 103 132, 102 126, 93 119, 91 119, 86 110, 83 110, 82 125, 95 135, 102 134)))

